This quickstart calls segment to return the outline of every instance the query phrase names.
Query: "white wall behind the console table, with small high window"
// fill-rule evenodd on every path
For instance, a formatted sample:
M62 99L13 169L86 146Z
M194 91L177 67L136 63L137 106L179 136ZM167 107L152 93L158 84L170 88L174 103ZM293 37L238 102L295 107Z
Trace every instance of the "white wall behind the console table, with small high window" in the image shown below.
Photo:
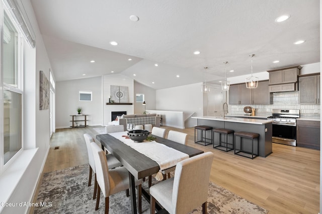
M79 91L91 91L92 101L79 101ZM71 116L88 114L88 125L103 125L102 77L56 82L56 128L71 126ZM83 119L83 118L82 118Z

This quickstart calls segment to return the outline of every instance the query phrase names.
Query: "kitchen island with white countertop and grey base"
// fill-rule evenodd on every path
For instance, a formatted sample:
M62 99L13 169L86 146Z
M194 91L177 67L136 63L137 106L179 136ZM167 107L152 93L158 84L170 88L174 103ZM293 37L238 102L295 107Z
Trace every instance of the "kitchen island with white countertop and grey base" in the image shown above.
M206 125L215 128L225 128L237 131L258 133L259 156L266 157L272 153L272 122L271 120L248 119L248 118L222 118L214 116L192 117L197 119L197 125ZM215 136L216 137L216 136ZM214 139L218 140L218 139ZM246 142L249 139L243 139ZM239 145L239 137L237 138ZM243 143L244 150L252 150L251 143ZM237 147L238 148L238 147Z

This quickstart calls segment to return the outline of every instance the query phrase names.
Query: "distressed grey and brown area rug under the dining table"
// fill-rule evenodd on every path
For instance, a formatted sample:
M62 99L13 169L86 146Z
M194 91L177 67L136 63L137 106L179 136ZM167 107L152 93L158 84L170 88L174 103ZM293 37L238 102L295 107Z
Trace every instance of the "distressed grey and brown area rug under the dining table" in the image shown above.
M88 186L89 164L74 166L44 173L37 197L37 203L47 206L35 206L34 213L104 213L104 196L101 194L100 208L95 211L93 200L94 176ZM157 182L154 178L152 183ZM147 181L143 182L147 189ZM191 213L201 213L201 206ZM267 213L264 209L238 195L209 182L208 213ZM130 197L125 191L110 196L110 213L131 213ZM149 204L142 197L142 213L150 213Z

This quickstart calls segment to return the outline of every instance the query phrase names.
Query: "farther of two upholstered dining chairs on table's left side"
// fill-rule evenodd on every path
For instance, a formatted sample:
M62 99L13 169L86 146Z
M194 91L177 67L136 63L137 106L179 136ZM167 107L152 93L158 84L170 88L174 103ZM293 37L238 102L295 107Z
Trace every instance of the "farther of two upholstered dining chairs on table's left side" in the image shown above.
M93 193L93 199L96 198L96 190L97 190L97 180L96 180L96 170L95 170L95 162L94 162L94 157L93 157L93 152L92 152L92 147L91 143L95 142L94 138L89 135L89 134L84 134L85 142L86 142L86 147L87 147L87 153L89 155L89 163L90 163L90 176L89 176L89 183L88 186L91 185L92 183L92 173L94 172L95 175L95 181L94 181L94 193ZM106 154L106 159L108 162L108 165L110 168L115 168L118 166L122 166L122 163L114 157L113 154Z

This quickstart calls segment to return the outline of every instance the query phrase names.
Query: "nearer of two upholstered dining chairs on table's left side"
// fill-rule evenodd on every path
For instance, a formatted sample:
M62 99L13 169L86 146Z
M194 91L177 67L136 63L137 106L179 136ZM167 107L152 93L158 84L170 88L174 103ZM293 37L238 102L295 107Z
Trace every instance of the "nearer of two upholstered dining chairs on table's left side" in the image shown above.
M94 142L91 143L91 147L93 151L98 182L95 210L99 208L100 195L102 190L105 197L105 213L109 213L109 196L122 190L126 190L130 187L129 172L124 166L110 170L106 161L104 151ZM139 213L141 213L142 210L141 184L142 179L135 179L135 185L137 186L138 192L137 206Z

